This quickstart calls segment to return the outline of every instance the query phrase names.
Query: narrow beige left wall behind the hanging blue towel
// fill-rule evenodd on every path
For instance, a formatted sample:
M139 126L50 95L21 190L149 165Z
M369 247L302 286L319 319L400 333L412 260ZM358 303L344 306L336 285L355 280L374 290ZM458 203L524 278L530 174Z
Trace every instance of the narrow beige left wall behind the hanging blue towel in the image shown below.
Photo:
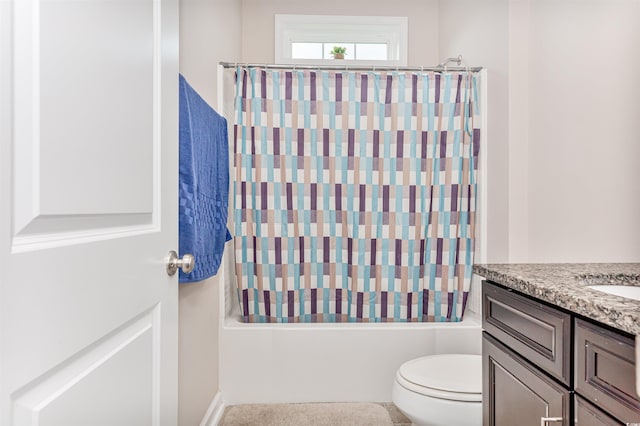
M217 108L217 65L239 61L241 2L180 1L180 72ZM179 293L178 424L197 425L219 390L219 279L182 284Z

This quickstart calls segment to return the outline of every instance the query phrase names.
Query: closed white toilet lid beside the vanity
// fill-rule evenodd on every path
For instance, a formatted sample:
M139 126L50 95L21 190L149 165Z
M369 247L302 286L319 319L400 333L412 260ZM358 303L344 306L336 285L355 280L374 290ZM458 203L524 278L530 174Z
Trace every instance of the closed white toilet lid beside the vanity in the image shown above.
M477 396L461 395L459 400L465 401L476 399L479 401L482 397L482 357L480 355L444 354L416 358L402 364L398 375L414 385L411 386L412 388L423 387L445 393L477 394Z

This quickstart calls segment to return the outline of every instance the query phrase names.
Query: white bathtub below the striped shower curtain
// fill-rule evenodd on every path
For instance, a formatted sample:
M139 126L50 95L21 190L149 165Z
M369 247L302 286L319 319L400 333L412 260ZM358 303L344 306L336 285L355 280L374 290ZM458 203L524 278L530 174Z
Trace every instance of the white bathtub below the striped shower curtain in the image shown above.
M245 324L228 306L237 305L230 291L221 295L227 306L220 329L220 391L227 405L391 401L403 362L481 353L479 280L460 323Z

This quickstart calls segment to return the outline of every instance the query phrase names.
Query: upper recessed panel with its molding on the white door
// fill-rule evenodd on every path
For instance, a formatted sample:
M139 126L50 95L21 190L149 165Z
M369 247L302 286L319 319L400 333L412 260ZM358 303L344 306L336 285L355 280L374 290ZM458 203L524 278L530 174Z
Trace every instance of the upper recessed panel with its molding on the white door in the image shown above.
M161 2L51 4L11 4L12 253L160 224Z

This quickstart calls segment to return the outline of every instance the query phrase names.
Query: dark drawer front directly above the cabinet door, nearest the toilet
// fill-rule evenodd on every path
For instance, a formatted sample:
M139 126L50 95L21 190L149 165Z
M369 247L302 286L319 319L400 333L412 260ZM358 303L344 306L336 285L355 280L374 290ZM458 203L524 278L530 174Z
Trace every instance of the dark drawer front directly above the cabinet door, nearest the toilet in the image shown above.
M482 327L565 385L571 375L571 316L485 281Z

